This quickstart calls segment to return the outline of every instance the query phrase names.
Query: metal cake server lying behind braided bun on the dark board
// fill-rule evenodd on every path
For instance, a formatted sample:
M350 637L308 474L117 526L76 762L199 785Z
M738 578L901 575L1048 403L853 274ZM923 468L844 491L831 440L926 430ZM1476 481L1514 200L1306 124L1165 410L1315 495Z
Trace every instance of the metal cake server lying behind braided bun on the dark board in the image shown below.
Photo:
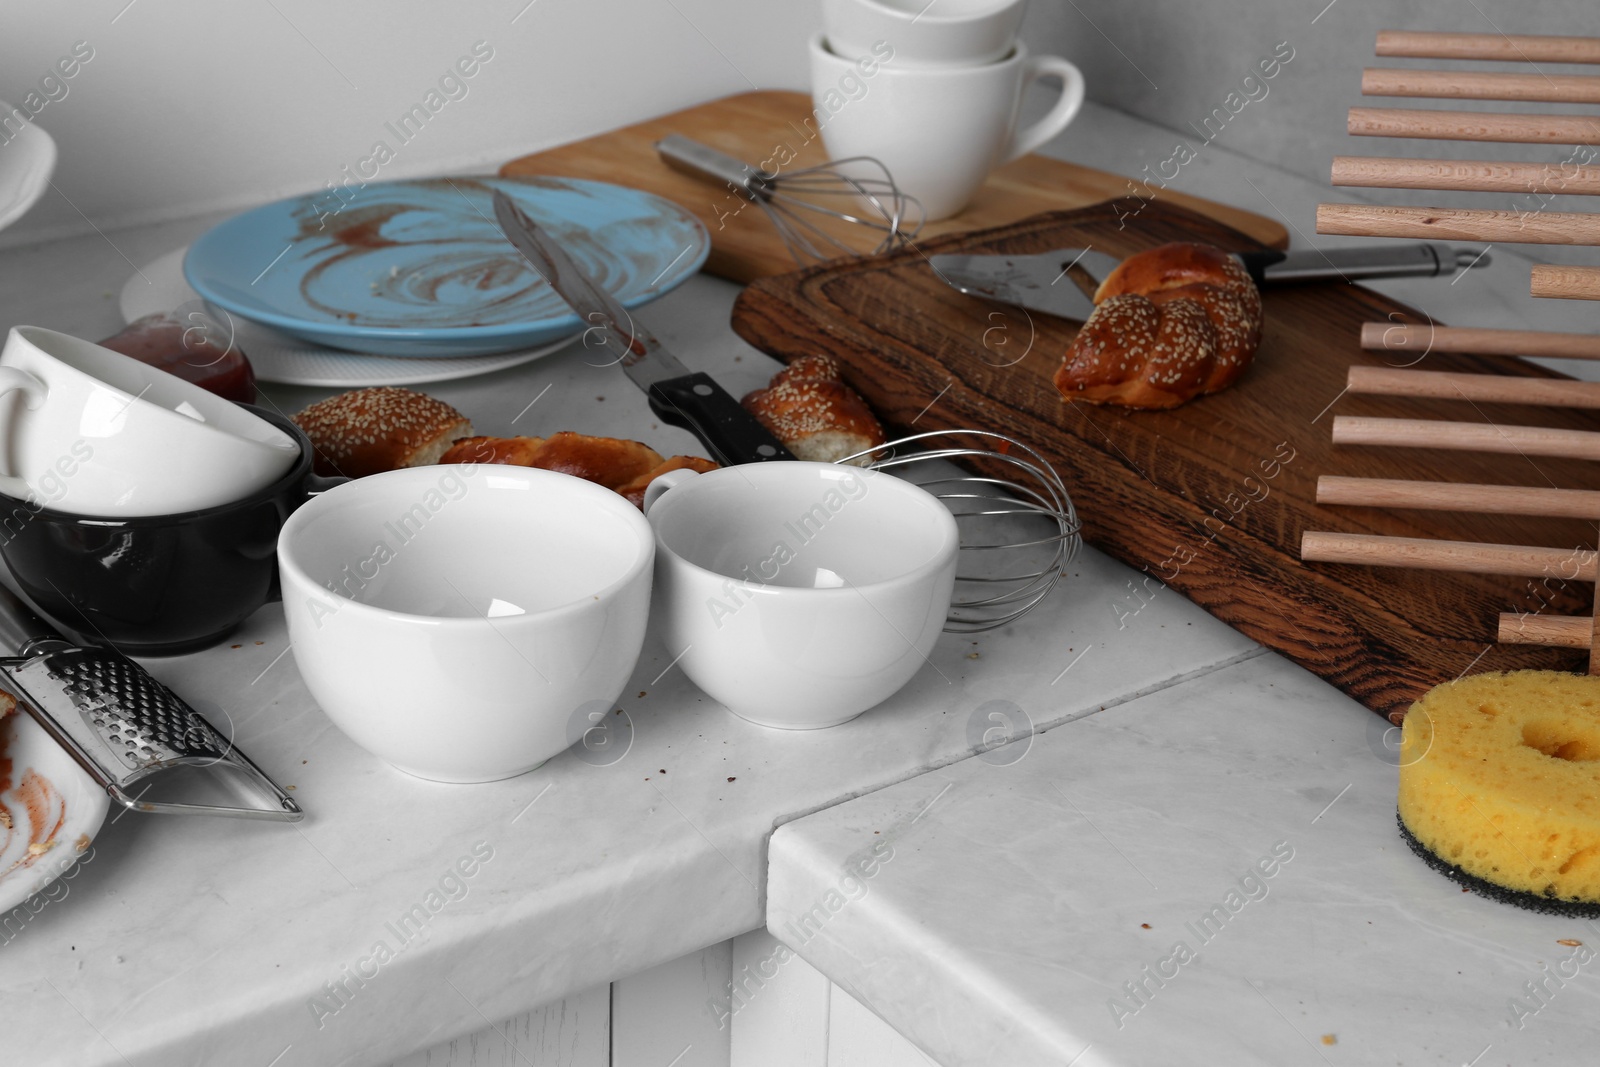
M1234 258L1256 285L1432 278L1490 264L1488 253L1448 245L1302 248L1291 253L1234 253ZM1093 248L1056 248L1037 256L942 253L928 256L928 262L946 285L970 296L1085 320L1094 310L1094 290L1122 258Z

